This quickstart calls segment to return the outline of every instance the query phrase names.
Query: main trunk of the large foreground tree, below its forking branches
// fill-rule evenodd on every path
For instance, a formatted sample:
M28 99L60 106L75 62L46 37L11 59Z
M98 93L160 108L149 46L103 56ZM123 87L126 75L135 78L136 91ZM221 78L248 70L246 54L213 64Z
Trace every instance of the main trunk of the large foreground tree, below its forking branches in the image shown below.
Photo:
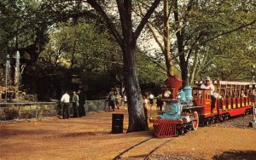
M136 45L125 44L122 48L125 73L125 91L127 94L129 128L127 132L144 131L148 129L143 110L142 93L137 78Z

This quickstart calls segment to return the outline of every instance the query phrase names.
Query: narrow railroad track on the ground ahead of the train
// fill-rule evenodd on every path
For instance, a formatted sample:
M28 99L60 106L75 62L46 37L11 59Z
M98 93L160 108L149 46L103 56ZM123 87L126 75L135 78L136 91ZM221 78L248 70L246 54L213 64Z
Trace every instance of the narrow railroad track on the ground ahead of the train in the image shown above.
M144 160L148 160L148 158L154 153L154 151L159 149L161 146L166 145L166 143L170 142L171 140L173 140L173 139L172 138L157 139L154 137L150 137L146 140L142 140L142 141L138 142L134 146L127 148L125 151L120 152L119 155L117 155L116 157L113 158L113 160L122 159L124 155L126 155L124 158L136 158L136 157L139 158L140 157L140 158L143 158ZM151 143L153 143L153 144L151 144ZM141 151L141 150L139 150L140 147L143 147L146 145L148 145L147 151L145 151L145 149L144 149L143 154L136 154L136 151ZM131 154L131 153L133 153L133 154ZM128 157L127 157L127 155L128 155Z

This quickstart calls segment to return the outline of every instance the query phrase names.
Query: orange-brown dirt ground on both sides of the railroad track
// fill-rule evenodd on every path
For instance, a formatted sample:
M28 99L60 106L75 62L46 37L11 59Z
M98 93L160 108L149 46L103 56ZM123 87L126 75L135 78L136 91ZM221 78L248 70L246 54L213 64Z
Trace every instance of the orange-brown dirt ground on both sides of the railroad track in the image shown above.
M127 111L116 112L125 114L127 129ZM110 134L112 113L0 123L0 159L113 159L152 136L152 125L149 132ZM143 159L155 146L169 139L148 140L121 158ZM256 129L205 127L171 139L149 159L218 159L218 155L234 157L234 152L247 158L256 157Z

